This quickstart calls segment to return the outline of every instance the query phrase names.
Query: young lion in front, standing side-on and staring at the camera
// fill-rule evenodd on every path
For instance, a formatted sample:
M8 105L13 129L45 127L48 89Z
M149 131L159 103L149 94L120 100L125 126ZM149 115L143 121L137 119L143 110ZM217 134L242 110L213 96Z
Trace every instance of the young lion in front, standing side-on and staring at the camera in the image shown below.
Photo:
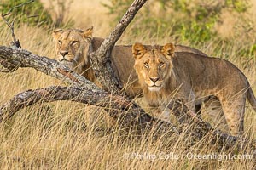
M135 43L132 53L148 105L165 107L172 98L182 99L195 112L195 105L215 96L232 135L243 133L246 99L256 111L256 99L247 78L227 60L177 52L172 43L164 47Z

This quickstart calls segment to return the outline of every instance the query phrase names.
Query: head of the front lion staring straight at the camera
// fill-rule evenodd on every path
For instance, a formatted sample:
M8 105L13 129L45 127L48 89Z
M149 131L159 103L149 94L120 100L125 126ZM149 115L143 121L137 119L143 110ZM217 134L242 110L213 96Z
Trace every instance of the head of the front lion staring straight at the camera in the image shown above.
M132 46L132 53L141 85L149 91L159 91L165 87L172 72L173 44L168 43L163 48L146 48L143 44L136 43Z

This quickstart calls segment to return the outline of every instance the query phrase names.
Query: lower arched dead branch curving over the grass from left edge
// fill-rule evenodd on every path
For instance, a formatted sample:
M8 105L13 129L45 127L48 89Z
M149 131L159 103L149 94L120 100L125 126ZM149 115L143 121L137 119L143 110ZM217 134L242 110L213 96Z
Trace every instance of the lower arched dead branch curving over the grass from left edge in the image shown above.
M9 102L4 104L0 108L0 116L3 120L7 120L11 116L14 116L17 111L27 106L57 100L70 100L100 106L114 120L118 120L122 128L131 129L132 127L136 127L137 132L140 133L145 133L145 131L153 129L155 126L158 126L158 131L162 131L162 133L167 133L167 129L169 134L180 133L182 131L181 128L174 127L167 122L161 122L149 116L138 105L122 96L109 95L106 92L95 92L79 87L52 86L49 88L27 90L15 95L13 99L10 99Z

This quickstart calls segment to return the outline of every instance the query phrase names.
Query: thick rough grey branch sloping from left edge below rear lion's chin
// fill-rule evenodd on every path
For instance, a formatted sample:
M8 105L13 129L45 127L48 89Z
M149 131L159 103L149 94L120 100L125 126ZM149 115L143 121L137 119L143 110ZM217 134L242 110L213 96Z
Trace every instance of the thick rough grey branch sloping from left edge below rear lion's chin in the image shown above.
M93 91L103 91L93 82L79 76L79 74L61 65L55 59L41 57L24 49L0 46L0 64L3 65L3 68L6 68L5 72L14 71L19 67L32 67L51 77L73 84L73 86L78 85L79 87L88 88L87 85L90 85L90 89Z

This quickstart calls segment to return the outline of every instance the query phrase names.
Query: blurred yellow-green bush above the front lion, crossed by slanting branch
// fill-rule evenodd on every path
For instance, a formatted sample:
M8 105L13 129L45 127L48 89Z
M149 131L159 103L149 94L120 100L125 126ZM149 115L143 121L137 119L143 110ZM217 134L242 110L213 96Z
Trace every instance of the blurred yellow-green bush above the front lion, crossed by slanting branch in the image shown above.
M112 0L106 4L109 14L115 17L115 23L121 19L133 0ZM148 2L134 20L132 32L137 36L150 30L150 36L177 38L191 42L206 42L217 36L214 29L222 22L220 15L224 9L237 14L247 12L247 2L238 0L154 0Z

